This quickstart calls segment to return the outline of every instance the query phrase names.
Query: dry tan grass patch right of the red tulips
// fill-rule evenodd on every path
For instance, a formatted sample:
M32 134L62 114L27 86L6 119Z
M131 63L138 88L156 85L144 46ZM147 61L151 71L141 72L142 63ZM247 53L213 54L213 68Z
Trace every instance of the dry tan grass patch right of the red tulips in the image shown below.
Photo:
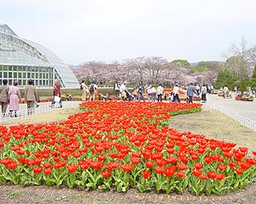
M200 113L176 115L171 118L170 127L178 132L193 132L207 138L233 142L237 146L246 146L249 155L251 151L256 151L256 132L216 110L203 109Z

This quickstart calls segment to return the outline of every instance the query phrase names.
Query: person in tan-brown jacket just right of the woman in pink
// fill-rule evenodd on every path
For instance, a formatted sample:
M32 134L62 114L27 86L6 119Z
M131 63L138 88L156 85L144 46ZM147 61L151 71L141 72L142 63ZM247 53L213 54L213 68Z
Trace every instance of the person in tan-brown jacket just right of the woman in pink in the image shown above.
M37 90L34 86L34 81L29 80L28 86L25 88L25 100L26 100L26 106L28 109L28 114L33 114L35 111L35 101L39 99Z

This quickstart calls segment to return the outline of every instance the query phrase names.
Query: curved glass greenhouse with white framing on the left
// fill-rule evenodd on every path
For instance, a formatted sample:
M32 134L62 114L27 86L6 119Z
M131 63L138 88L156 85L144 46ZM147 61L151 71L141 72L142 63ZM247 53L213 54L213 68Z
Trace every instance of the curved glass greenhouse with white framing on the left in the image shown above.
M38 88L51 88L58 79L63 88L77 88L79 83L72 69L63 60L45 48L17 36L7 25L0 24L0 78L8 84L18 81L27 86L32 79ZM0 81L2 84L2 80Z

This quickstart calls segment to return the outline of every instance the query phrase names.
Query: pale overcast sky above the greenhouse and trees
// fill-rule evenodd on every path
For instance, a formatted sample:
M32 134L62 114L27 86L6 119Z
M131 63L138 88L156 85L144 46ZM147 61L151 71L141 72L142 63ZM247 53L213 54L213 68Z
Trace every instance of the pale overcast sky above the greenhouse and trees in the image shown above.
M65 63L163 57L223 60L256 44L255 0L0 0L0 24Z

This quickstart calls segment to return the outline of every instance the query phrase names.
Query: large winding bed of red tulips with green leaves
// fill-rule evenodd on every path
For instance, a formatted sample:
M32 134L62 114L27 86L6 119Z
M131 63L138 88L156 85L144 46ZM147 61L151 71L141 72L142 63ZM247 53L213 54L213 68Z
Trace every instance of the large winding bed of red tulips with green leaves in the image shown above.
M95 101L81 109L61 123L0 126L0 183L209 196L255 178L246 147L168 127L171 114L201 104Z

